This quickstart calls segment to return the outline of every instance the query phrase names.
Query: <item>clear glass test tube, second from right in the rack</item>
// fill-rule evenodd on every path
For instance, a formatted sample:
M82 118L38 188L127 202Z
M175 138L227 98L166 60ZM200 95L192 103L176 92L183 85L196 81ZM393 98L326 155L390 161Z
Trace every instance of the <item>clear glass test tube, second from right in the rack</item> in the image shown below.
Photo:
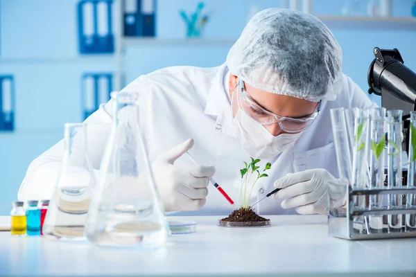
M388 188L401 187L402 110L387 111L388 117ZM401 195L388 195L389 208L401 206ZM388 231L401 232L402 215L388 215Z

